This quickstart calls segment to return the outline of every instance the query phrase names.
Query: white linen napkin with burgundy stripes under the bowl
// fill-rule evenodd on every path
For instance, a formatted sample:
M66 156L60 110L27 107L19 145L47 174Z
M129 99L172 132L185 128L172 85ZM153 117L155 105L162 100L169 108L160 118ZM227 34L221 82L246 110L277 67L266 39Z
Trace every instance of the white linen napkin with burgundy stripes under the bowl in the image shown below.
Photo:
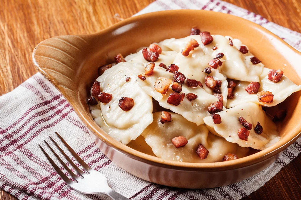
M157 0L136 15L169 9L203 9L243 17L301 49L300 33L220 0ZM24 200L109 199L103 194L81 194L57 175L38 147L44 139L49 141L49 135L57 140L55 131L88 165L107 177L112 189L130 199L240 199L263 186L301 152L299 138L272 165L247 180L213 189L170 188L135 177L112 163L96 147L68 102L39 73L0 97L0 108L0 188Z

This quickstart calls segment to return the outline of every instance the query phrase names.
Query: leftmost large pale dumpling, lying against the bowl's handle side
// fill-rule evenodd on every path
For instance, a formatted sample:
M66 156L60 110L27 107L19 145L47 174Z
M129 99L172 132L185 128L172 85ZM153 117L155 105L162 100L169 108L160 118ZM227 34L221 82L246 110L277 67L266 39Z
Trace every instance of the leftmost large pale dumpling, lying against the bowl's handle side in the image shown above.
M123 144L135 140L153 121L152 98L138 86L133 75L133 66L129 62L120 62L104 71L97 81L100 82L101 91L112 94L112 100L107 104L90 105L95 122L107 134ZM127 77L130 77L128 82ZM118 102L121 97L134 99L131 110L123 111L119 108Z

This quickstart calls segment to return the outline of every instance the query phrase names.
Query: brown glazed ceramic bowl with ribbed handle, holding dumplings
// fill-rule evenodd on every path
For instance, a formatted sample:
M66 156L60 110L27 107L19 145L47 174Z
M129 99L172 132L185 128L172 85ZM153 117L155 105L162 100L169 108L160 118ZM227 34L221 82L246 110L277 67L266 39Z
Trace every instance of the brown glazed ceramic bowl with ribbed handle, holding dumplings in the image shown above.
M33 50L33 63L67 99L92 132L95 143L116 165L144 180L166 186L225 186L264 170L300 137L300 92L293 93L281 103L288 114L279 126L279 142L241 159L215 163L175 162L134 150L105 133L94 122L87 104L99 66L114 62L114 56L118 53L126 56L152 42L186 37L191 27L195 26L212 34L239 38L266 67L280 68L294 83L301 84L300 52L255 23L212 11L160 11L131 17L91 35L49 38Z

